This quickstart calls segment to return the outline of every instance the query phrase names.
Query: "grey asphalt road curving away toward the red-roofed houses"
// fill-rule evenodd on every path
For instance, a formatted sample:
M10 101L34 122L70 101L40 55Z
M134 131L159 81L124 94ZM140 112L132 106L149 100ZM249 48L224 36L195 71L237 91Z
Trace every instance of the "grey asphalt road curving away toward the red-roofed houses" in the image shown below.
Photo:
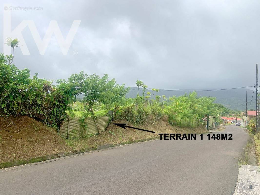
M153 140L0 170L0 194L233 194L249 136L221 133L233 140Z

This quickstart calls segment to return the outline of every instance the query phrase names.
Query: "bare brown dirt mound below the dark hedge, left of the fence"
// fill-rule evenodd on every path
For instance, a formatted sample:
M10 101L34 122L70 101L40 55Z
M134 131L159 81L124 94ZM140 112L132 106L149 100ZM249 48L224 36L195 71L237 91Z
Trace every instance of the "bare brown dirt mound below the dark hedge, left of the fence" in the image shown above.
M0 163L69 151L54 128L28 116L0 117Z

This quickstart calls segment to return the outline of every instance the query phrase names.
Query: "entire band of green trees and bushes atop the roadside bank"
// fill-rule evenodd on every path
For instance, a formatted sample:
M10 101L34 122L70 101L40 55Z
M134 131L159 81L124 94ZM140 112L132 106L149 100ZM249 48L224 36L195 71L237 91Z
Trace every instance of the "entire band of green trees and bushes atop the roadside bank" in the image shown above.
M19 46L17 39L8 39L10 47ZM9 60L9 63L7 60ZM154 123L159 118L167 118L172 125L198 127L205 118L213 116L219 122L221 114L230 110L220 104L213 103L213 97L198 97L196 92L189 95L166 98L156 92L155 100L143 81L137 80L136 86L142 87L142 96L125 98L129 88L116 84L115 79L109 80L107 74L100 77L88 75L83 71L71 75L68 80L53 81L31 77L30 70L20 70L12 64L13 55L0 54L0 110L2 115L27 115L50 125L59 127L61 122L70 117L78 117L84 128L84 118L92 117L97 129L96 120L112 110L112 118L126 120L136 124ZM83 95L82 100L77 96Z

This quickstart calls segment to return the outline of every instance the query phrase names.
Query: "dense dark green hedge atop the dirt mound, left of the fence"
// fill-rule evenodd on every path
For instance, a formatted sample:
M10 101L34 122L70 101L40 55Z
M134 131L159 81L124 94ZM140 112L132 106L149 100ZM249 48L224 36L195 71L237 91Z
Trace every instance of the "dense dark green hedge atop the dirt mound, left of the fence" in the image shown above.
M39 120L60 125L67 117L66 110L74 97L74 89L64 81L57 86L40 79L30 78L28 69L20 70L8 65L0 55L0 109L6 116L28 115Z

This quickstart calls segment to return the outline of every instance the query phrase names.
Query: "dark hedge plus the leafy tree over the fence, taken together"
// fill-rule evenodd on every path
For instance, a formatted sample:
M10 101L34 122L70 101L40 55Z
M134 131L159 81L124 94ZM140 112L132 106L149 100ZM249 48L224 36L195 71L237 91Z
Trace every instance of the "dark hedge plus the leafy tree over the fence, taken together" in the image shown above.
M7 40L10 47L19 47L17 39ZM7 60L9 63L7 63ZM0 111L2 115L28 115L59 127L61 122L70 116L91 116L96 123L96 117L102 116L109 106L125 97L128 88L116 84L115 79L108 80L105 74L87 75L83 72L73 74L66 81L53 81L31 78L30 70L20 70L12 64L13 55L0 53ZM83 94L82 104L75 103L76 96ZM104 109L99 109L102 107ZM99 129L99 127L97 126Z

